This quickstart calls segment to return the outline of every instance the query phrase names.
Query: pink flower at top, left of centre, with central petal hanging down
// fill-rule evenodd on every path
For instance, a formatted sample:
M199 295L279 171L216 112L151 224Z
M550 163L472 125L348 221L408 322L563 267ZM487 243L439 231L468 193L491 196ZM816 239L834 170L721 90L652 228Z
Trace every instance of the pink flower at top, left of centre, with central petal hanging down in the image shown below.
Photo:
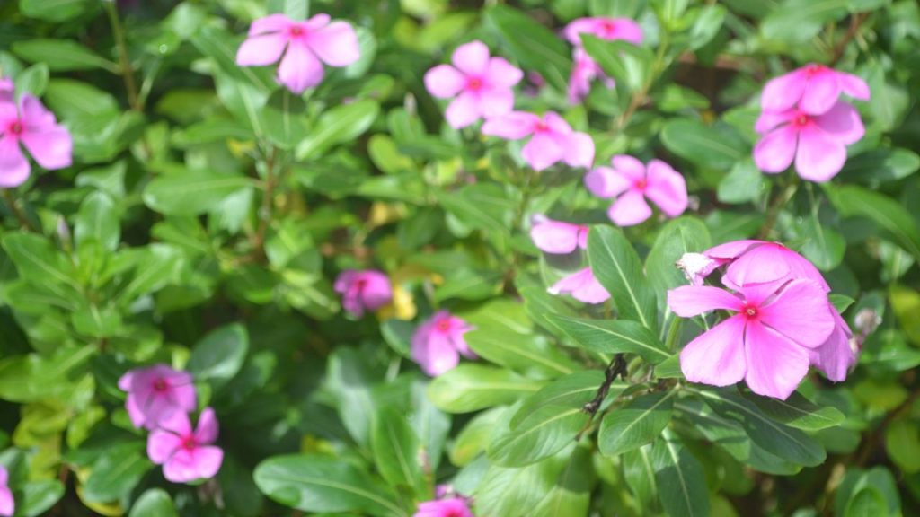
M252 22L247 40L236 52L236 64L265 66L284 54L278 80L293 93L304 93L323 80L323 63L348 66L361 57L358 36L351 25L329 23L329 19L322 14L306 21L293 21L284 15L261 17Z

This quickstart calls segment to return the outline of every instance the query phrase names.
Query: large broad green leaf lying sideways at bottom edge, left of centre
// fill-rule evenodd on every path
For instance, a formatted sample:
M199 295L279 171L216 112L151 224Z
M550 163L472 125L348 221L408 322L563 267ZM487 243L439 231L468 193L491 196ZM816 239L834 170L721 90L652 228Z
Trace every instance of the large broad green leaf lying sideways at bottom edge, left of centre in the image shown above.
M271 457L256 467L259 490L301 511L407 516L393 495L354 465L309 455Z

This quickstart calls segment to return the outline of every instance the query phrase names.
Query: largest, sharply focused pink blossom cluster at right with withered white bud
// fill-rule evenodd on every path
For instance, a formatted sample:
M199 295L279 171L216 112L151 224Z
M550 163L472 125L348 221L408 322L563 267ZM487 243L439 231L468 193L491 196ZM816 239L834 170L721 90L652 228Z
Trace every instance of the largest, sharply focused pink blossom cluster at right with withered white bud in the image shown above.
M668 292L674 314L731 315L681 351L688 381L726 386L743 379L756 394L786 399L809 366L839 382L856 362L853 334L828 299L830 286L788 247L735 241L685 255L678 267L691 285ZM725 289L704 285L719 268Z

